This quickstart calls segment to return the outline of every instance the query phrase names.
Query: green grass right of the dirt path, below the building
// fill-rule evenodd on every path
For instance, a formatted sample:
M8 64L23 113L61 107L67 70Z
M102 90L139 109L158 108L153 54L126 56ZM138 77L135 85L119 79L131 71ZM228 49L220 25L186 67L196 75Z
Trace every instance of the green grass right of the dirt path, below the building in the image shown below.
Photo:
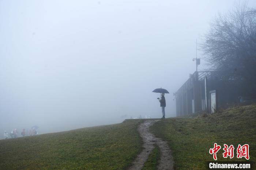
M249 144L249 161L256 159L256 105L235 107L207 117L171 118L158 121L150 130L166 140L173 151L175 169L206 169L206 161L214 161L209 149L214 143L222 148L218 161L237 159L238 144ZM223 144L233 144L234 158L223 158Z

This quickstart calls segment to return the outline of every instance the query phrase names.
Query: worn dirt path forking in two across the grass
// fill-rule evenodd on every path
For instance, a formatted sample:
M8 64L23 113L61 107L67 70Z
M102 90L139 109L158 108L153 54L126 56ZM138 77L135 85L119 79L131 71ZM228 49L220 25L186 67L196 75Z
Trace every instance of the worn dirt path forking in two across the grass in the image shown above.
M173 157L167 142L161 138L156 138L155 135L149 132L149 127L159 120L146 120L139 125L138 131L143 139L143 150L133 161L129 170L140 170L143 168L144 163L147 161L148 155L154 148L154 144L157 144L160 148L161 157L158 165L158 169L173 169Z

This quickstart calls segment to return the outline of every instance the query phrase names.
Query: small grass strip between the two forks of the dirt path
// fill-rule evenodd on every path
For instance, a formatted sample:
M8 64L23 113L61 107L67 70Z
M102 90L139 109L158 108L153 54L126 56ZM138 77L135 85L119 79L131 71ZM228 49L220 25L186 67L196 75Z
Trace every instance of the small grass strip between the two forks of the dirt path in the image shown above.
M152 152L148 156L148 159L145 162L142 170L156 170L159 159L160 159L160 149L158 146L155 146L155 148L152 150Z

